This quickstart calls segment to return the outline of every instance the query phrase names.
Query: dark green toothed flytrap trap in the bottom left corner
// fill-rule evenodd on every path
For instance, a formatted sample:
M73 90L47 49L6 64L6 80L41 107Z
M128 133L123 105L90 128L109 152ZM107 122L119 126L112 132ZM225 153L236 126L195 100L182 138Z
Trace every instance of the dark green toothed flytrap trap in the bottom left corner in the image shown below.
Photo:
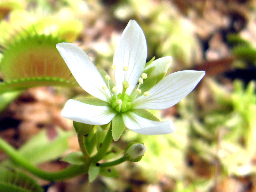
M43 192L44 190L28 175L17 170L0 167L1 192Z

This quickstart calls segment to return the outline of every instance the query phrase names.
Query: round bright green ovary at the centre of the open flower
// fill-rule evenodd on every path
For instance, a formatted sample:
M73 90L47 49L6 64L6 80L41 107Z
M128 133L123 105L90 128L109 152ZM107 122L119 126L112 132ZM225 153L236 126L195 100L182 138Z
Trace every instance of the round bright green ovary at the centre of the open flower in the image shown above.
M121 104L117 103L118 99L122 100ZM132 100L130 96L127 94L122 95L121 93L119 93L117 95L117 98L116 98L116 95L114 95L111 99L111 106L112 108L116 109L117 112L128 111L131 108L131 103L132 103ZM121 108L120 108L120 105L121 105Z

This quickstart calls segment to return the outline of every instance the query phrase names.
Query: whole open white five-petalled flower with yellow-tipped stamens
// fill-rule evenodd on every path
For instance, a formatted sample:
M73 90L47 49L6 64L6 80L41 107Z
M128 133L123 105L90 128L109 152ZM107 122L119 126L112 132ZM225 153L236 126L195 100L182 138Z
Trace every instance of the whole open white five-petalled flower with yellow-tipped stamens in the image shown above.
M125 127L146 135L172 133L174 125L171 120L160 122L145 109L165 109L175 105L195 88L205 74L204 71L187 70L163 78L161 71L152 72L150 69L147 71L151 71L152 76L150 73L142 74L147 45L140 26L134 20L130 20L124 29L114 54L114 83L106 72L98 71L76 45L60 43L56 47L79 85L95 97L68 100L61 115L93 125L108 124L112 120L114 140L120 138ZM164 60L170 61L170 58ZM163 72L166 73L166 69Z

